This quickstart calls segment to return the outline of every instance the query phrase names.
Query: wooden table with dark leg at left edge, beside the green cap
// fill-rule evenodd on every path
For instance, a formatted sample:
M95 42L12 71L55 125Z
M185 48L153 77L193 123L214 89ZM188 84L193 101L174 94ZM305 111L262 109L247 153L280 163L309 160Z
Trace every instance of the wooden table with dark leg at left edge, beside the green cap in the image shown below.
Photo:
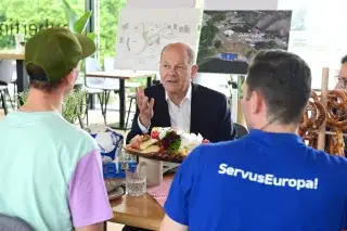
M24 52L18 52L16 50L2 50L0 51L0 60L15 60L16 72L17 72L17 92L22 92L29 87L29 78L26 74L24 66Z

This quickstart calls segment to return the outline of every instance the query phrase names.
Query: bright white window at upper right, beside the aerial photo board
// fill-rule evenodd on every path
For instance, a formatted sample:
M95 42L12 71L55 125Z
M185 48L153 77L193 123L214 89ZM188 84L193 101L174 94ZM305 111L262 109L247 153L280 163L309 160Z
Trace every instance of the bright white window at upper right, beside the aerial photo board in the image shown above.
M320 89L322 68L330 67L329 87L334 88L342 56L347 54L345 0L279 0L279 9L293 10L288 50L311 67L312 88Z

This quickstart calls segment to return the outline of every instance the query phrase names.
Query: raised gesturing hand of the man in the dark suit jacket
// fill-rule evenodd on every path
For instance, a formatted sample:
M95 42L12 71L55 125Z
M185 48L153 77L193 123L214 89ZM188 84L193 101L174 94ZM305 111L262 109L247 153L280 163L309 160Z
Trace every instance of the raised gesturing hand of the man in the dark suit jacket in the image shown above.
M151 101L149 101L149 98L144 94L143 89L139 88L138 94L137 94L137 101L140 110L140 113L139 113L140 123L143 127L147 128L154 115L154 112L153 112L154 99L152 98Z

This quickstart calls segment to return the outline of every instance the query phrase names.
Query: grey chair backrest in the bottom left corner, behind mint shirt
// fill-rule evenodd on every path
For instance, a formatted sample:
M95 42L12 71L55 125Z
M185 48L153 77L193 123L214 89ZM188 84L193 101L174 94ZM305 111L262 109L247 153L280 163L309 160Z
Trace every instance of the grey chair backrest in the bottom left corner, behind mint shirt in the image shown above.
M18 217L0 214L0 230L5 231L35 231L26 221Z

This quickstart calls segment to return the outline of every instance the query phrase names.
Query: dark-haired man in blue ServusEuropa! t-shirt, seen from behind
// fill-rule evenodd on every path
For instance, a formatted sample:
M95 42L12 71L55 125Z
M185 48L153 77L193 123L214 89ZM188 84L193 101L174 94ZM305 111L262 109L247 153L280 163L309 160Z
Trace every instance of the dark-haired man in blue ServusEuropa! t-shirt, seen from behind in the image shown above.
M347 161L297 136L310 92L311 72L299 56L257 53L242 100L249 134L203 144L187 157L160 230L342 230Z

